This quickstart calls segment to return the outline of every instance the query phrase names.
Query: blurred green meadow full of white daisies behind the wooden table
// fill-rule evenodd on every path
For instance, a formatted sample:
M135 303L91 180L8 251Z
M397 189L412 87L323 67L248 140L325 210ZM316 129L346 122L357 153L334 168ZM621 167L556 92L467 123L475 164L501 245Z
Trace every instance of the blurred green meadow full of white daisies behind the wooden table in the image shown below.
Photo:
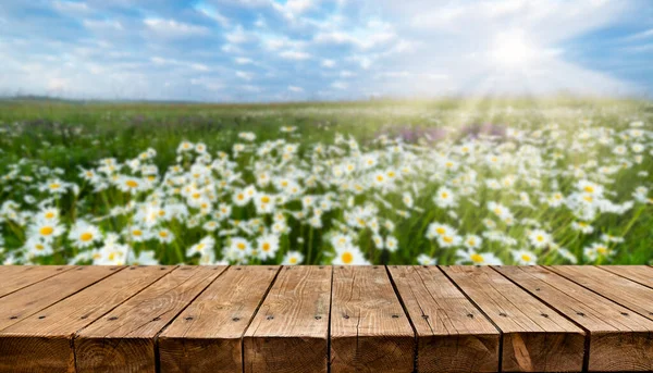
M644 264L645 102L0 104L4 264Z

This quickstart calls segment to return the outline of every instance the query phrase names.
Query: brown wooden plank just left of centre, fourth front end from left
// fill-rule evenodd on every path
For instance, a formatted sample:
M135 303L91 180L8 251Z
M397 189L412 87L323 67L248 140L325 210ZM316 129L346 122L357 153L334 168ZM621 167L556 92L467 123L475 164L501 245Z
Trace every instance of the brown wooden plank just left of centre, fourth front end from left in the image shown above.
M243 339L246 373L326 372L330 266L284 266Z

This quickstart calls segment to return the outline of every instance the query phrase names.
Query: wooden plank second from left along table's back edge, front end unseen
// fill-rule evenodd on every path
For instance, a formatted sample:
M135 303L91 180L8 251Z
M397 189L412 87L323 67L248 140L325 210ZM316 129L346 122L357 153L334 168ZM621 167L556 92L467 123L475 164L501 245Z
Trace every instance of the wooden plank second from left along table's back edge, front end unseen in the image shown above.
M120 270L120 266L78 266L3 297L0 331Z

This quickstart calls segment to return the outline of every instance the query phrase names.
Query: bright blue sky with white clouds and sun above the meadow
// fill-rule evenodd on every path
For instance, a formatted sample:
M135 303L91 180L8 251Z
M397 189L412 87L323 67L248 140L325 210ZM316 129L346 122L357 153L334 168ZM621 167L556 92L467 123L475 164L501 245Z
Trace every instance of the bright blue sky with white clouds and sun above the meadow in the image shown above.
M653 92L649 0L2 0L0 95Z

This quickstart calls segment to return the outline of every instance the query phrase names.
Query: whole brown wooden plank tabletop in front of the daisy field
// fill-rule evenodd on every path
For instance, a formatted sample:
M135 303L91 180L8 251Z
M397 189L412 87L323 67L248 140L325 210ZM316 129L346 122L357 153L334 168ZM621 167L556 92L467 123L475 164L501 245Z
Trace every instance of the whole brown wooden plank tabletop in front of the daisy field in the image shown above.
M652 370L650 266L0 266L0 372Z

